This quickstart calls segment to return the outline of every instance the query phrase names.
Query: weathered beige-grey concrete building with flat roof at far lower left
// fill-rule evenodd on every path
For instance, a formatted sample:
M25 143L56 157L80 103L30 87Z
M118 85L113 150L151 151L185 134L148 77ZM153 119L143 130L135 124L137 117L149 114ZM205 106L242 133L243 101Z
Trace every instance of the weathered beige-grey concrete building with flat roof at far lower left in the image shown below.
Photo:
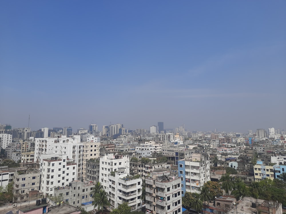
M31 201L38 199L41 192L40 172L36 169L27 169L25 167L16 169L13 184L14 201Z

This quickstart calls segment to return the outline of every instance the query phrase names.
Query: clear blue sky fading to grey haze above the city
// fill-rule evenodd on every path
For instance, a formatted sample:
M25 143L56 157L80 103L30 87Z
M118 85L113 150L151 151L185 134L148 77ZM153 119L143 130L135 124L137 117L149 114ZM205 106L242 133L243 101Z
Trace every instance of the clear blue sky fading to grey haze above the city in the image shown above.
M286 1L0 1L0 123L286 130Z

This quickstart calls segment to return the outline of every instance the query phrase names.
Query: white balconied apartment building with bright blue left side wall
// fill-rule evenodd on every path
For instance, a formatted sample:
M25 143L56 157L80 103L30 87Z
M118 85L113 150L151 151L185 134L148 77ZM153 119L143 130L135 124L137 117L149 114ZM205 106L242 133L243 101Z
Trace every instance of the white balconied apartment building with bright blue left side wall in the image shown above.
M210 181L210 158L207 154L193 153L189 160L178 161L178 176L182 179L182 196L185 192L200 193Z

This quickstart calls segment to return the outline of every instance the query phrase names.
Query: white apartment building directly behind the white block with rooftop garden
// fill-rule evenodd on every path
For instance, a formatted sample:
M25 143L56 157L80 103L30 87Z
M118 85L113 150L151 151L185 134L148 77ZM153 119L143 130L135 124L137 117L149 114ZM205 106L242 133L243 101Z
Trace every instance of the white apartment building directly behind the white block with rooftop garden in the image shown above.
M118 168L122 167L125 167L126 172L129 173L129 155L107 153L100 157L99 181L106 191L109 191L108 175L111 171L118 171Z

